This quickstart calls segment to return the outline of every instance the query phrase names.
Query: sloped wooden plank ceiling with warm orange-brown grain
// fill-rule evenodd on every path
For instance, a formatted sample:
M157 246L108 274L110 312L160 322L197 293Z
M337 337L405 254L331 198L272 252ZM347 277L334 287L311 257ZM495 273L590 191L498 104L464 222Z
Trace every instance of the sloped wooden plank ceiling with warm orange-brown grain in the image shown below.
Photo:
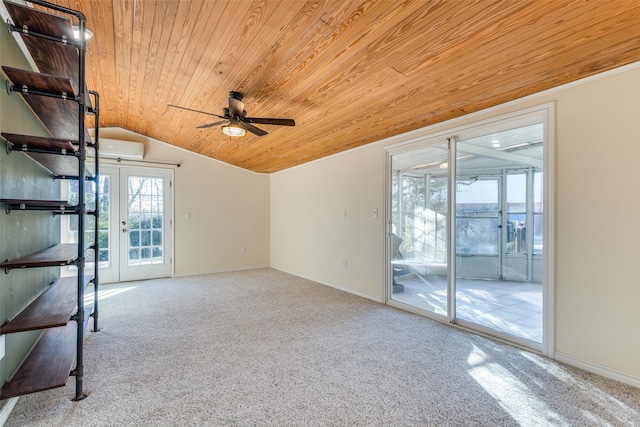
M271 173L640 60L639 0L54 0L100 125ZM257 137L197 129L229 91Z

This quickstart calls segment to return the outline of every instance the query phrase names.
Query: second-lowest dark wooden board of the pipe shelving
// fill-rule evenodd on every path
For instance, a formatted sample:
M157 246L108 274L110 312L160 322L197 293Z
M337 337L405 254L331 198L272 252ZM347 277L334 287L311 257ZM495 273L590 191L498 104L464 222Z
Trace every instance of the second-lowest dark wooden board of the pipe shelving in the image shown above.
M86 288L92 276L85 275ZM78 296L77 277L63 277L49 286L27 308L0 327L0 334L55 328L69 322L76 311Z

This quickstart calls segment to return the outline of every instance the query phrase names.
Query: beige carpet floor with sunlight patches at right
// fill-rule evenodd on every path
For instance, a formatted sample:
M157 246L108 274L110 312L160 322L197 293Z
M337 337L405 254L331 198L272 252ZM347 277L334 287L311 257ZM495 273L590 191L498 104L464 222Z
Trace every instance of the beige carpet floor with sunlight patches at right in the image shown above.
M15 426L638 426L640 390L273 269L102 287Z

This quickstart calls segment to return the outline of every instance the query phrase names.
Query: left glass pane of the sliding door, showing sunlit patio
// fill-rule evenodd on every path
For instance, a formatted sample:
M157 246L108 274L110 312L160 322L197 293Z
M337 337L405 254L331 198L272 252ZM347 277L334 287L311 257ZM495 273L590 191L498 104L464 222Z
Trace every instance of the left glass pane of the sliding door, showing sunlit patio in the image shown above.
M448 144L393 157L392 297L447 316Z

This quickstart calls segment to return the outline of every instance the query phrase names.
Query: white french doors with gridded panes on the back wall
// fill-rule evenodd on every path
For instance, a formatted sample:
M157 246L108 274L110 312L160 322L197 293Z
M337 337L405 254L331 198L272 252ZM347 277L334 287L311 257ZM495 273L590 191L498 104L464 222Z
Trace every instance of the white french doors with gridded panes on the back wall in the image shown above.
M171 170L101 167L97 236L101 283L172 275L171 182ZM73 193L72 186L71 198ZM63 227L65 240L73 240L73 229L71 223ZM93 241L93 236L87 241Z

